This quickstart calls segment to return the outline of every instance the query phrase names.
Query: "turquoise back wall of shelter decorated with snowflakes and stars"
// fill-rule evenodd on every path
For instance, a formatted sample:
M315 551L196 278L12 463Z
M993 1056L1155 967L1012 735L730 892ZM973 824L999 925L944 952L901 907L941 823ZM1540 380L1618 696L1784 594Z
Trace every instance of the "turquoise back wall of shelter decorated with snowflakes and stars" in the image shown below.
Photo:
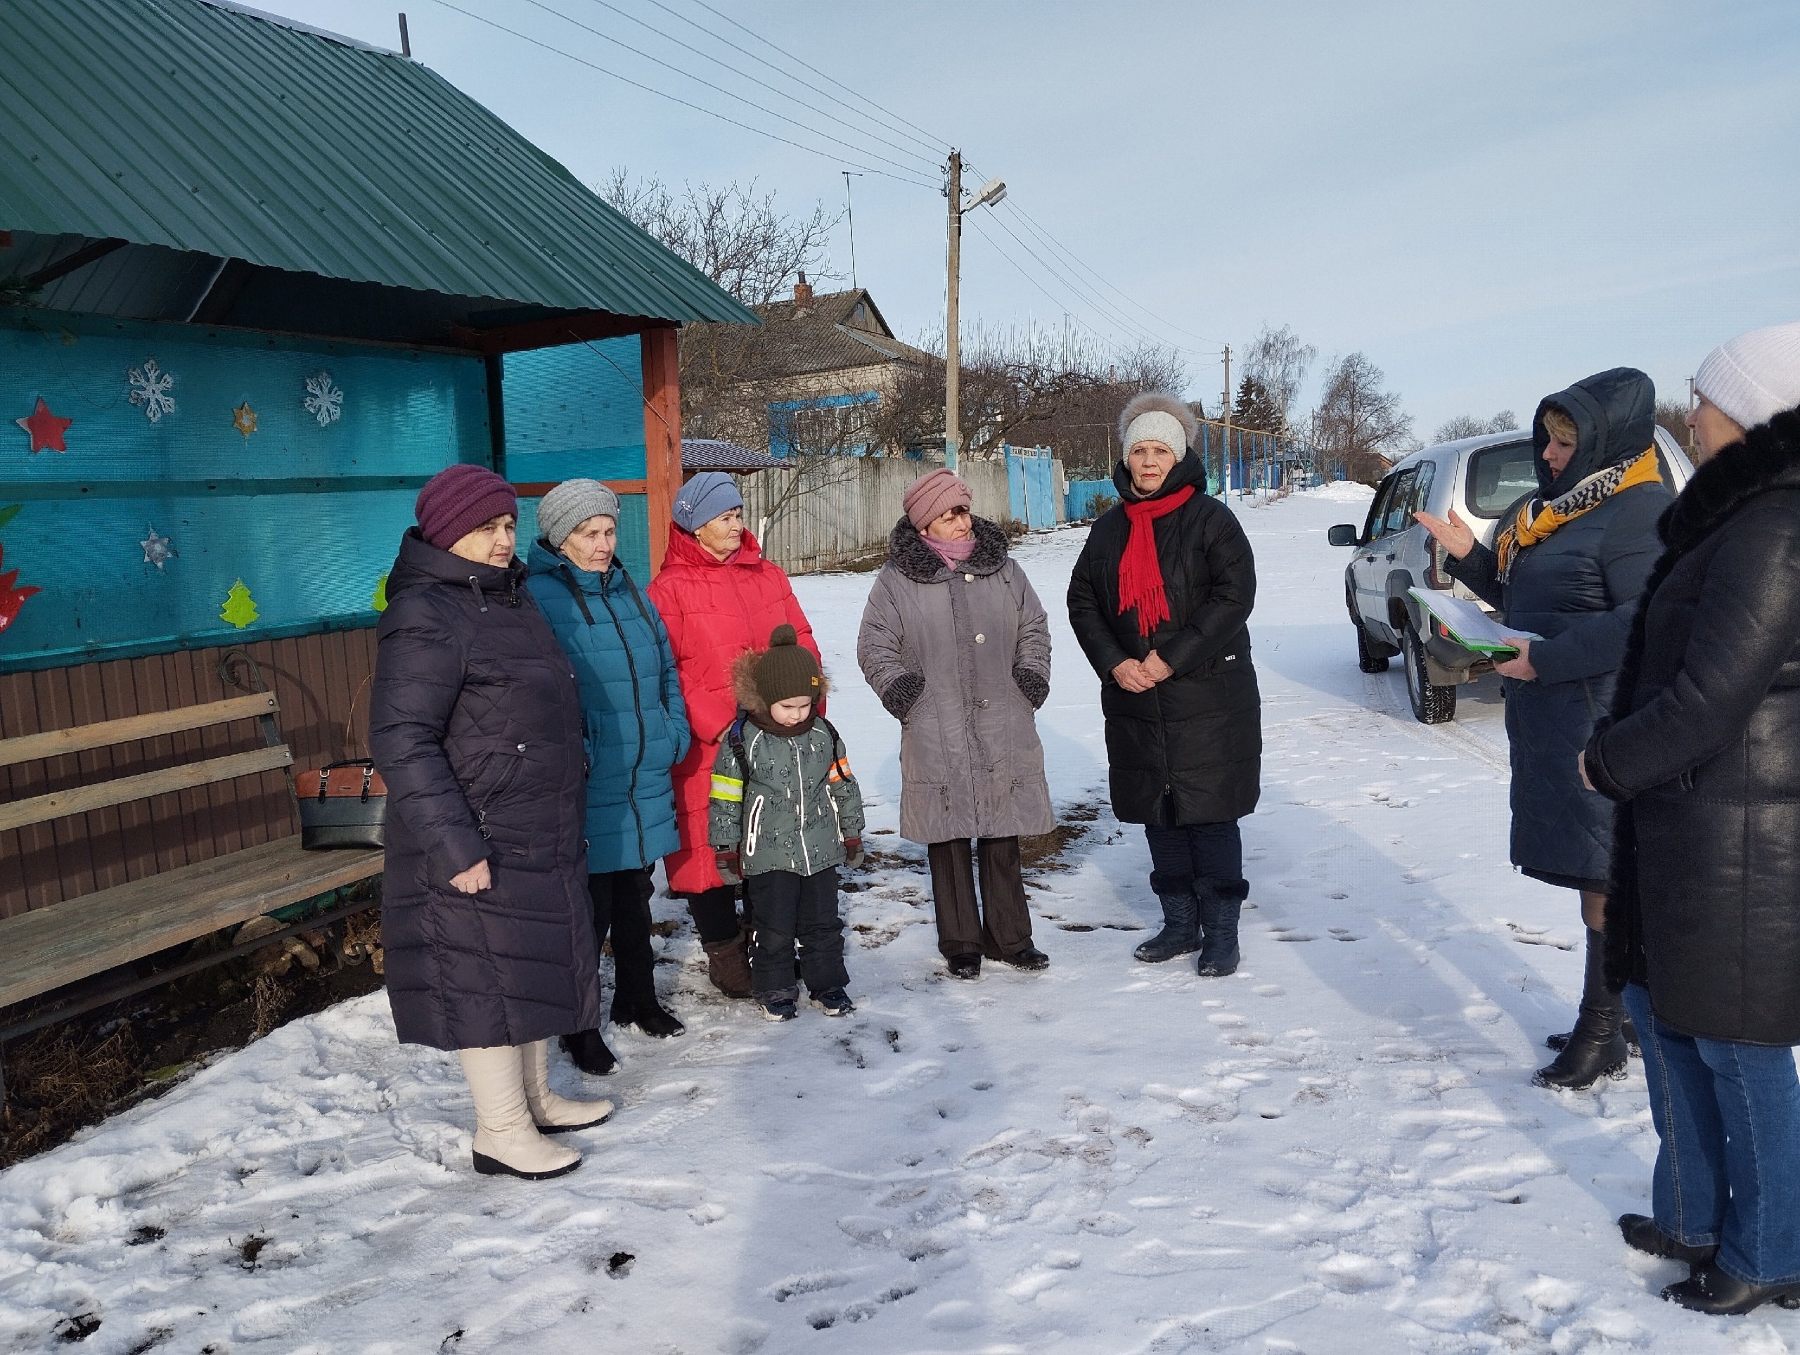
M131 403L149 362L158 419ZM324 423L319 376L340 396ZM65 452L14 423L40 398L74 419ZM0 311L0 671L373 624L418 488L488 457L479 358ZM254 621L221 617L236 581Z

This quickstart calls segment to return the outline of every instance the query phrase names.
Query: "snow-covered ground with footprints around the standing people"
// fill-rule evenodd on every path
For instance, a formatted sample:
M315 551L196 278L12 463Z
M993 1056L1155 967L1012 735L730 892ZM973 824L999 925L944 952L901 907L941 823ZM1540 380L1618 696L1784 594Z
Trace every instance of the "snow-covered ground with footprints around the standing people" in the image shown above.
M844 896L855 1017L770 1026L680 930L688 1035L616 1040L590 1085L619 1112L545 1184L470 1171L454 1058L396 1045L380 993L293 1022L0 1177L0 1350L1800 1346L1800 1314L1661 1303L1685 1270L1618 1240L1649 1197L1640 1065L1528 1085L1580 920L1507 866L1494 684L1426 729L1397 671L1357 671L1325 529L1364 507L1242 511L1267 754L1235 977L1130 957L1148 858L1107 812L1098 684L1058 621L1040 727L1078 833L1035 871L1053 963L947 979L893 833L896 727L853 660L873 576L806 578L880 851ZM1080 543L1021 549L1053 619Z

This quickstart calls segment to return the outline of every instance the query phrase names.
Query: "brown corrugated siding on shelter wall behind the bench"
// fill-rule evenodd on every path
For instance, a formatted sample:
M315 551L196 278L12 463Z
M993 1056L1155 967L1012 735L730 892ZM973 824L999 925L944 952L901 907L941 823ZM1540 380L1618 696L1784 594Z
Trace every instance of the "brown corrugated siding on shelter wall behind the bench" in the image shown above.
M374 630L9 673L0 677L0 738L238 696L239 689L227 686L218 671L230 648L241 648L256 660L281 702L281 732L297 768L364 752L367 693L356 709L353 750L344 747L344 723L358 686L374 671ZM254 720L239 720L209 731L0 767L0 801L259 747L261 727ZM301 826L286 777L265 772L0 833L0 918L297 831Z

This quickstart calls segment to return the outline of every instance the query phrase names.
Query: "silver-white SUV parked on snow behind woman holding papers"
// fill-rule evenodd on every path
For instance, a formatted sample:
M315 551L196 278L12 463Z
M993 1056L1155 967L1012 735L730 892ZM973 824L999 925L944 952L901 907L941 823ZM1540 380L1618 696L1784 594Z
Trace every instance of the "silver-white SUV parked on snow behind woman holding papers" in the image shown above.
M1665 428L1656 430L1656 464L1670 493L1681 493L1694 468ZM1456 644L1449 633L1408 596L1408 588L1449 588L1474 597L1444 569L1444 547L1431 540L1413 513L1449 516L1454 507L1474 527L1476 540L1494 543L1494 531L1508 507L1537 493L1532 435L1528 432L1463 437L1413 452L1375 489L1368 520L1357 529L1330 529L1332 545L1354 545L1345 567L1345 603L1355 626L1357 662L1364 673L1381 673L1388 660L1404 655L1406 695L1413 714L1427 725L1456 718L1456 687L1474 682L1494 664Z

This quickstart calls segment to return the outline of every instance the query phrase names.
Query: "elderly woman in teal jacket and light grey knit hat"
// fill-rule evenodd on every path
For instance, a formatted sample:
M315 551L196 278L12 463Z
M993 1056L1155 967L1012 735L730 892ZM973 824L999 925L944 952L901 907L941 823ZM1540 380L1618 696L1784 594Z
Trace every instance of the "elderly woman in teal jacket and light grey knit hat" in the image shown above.
M538 504L526 587L581 687L587 727L587 869L594 939L612 934L612 1022L646 1035L686 1027L657 1001L650 871L680 846L670 768L688 752L688 711L668 630L617 560L619 498L563 480ZM617 1060L598 1029L563 1036L583 1072Z

